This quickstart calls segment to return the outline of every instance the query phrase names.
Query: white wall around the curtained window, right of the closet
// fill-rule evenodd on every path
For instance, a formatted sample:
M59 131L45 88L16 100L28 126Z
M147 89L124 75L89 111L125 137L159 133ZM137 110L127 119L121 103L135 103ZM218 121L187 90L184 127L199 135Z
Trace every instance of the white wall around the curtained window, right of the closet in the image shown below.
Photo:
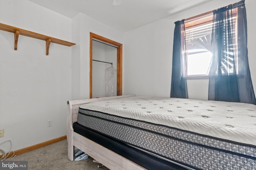
M123 94L170 97L174 22L208 12L238 0L212 0L154 23L124 33ZM248 58L256 91L254 57L255 1L246 0L248 20ZM208 80L188 80L188 97L208 99Z

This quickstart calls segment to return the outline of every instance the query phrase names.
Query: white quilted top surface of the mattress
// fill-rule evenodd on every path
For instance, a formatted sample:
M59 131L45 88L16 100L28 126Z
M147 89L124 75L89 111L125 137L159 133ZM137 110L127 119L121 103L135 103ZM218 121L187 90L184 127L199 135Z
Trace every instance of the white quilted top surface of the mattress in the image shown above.
M256 146L253 104L135 96L80 107Z

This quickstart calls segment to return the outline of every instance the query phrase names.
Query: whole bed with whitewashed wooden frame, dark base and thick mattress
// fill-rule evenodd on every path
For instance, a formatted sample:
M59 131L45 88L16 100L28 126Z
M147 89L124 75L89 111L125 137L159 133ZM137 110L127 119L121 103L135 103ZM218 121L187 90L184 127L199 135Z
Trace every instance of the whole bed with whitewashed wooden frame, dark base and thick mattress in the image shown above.
M109 169L256 170L256 106L148 96L68 101L74 146Z

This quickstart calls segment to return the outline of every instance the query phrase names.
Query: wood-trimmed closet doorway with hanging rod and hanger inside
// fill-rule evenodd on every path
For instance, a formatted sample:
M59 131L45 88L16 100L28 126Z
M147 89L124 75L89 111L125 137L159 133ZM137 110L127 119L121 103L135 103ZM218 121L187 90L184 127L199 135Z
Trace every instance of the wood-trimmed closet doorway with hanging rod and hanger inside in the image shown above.
M114 58L107 58L112 54ZM113 87L116 92L111 92ZM90 33L90 98L110 94L122 95L122 44Z

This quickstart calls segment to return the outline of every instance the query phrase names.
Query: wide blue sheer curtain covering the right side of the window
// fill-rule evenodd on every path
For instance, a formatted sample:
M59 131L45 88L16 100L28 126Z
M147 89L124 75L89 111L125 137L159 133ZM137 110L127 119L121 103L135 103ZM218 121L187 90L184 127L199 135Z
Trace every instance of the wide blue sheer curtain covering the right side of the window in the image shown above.
M248 64L244 0L214 10L208 99L256 104Z

